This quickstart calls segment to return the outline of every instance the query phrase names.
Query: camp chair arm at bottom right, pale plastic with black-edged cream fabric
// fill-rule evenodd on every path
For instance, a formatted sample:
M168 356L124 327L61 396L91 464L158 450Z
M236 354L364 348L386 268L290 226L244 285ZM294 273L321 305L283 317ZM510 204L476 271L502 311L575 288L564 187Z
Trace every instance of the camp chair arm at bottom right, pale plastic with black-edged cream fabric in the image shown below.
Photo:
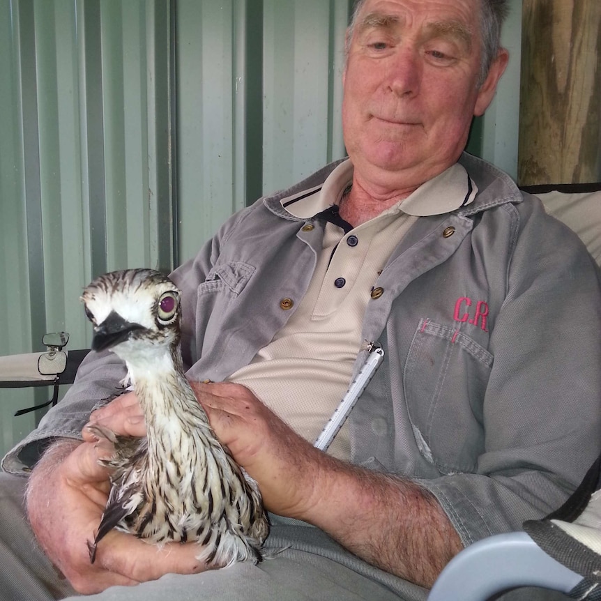
M523 532L491 536L459 553L428 601L485 601L522 586L601 599L601 456L557 511L524 522Z

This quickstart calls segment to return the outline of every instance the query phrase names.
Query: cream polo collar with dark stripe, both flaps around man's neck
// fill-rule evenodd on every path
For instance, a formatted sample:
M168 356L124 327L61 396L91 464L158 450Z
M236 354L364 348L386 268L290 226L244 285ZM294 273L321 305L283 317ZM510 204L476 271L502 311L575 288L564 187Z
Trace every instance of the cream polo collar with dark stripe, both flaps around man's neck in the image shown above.
M345 160L337 165L323 185L303 190L280 200L282 206L292 215L308 219L338 204L344 190L353 181L353 164ZM442 215L466 206L476 198L478 187L459 163L420 185L411 195L402 199L384 213L402 211L408 215L425 217Z

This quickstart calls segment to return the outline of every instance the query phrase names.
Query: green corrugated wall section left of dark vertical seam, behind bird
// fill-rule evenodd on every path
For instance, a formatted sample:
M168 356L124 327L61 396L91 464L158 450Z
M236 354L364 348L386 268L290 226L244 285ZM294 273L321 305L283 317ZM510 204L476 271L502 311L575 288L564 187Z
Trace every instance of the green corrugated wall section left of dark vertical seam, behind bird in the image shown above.
M171 8L0 2L1 354L41 350L49 330L88 346L93 275L172 264ZM0 389L1 448L45 395Z

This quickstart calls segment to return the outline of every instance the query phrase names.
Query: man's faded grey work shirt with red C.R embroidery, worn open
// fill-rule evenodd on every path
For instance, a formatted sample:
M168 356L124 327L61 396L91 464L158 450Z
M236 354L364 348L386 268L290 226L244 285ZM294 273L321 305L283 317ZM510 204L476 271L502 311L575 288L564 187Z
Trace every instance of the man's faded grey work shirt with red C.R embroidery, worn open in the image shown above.
M556 508L599 455L601 293L584 245L538 199L482 160L460 162L476 199L420 217L376 282L362 336L386 358L349 419L351 460L420 481L468 545ZM282 300L303 298L324 225L280 199L334 167L232 216L174 272L191 379L247 365L289 319ZM93 355L4 469L31 464L49 438L79 438L124 374L115 356Z

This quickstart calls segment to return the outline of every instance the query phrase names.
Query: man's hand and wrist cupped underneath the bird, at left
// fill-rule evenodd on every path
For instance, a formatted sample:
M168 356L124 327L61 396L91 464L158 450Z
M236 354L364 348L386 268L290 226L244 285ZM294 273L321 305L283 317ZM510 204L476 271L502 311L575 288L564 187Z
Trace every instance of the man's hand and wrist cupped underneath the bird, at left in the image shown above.
M113 416L114 417L114 416ZM124 418L123 421L127 421ZM98 464L102 447L64 439L40 459L29 480L27 512L40 546L79 593L98 593L116 584L134 585L176 572L204 570L195 543L149 545L133 535L111 531L90 563L93 541L110 488Z

